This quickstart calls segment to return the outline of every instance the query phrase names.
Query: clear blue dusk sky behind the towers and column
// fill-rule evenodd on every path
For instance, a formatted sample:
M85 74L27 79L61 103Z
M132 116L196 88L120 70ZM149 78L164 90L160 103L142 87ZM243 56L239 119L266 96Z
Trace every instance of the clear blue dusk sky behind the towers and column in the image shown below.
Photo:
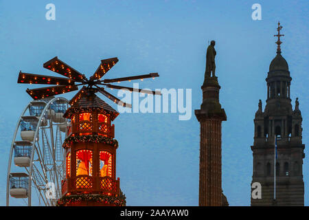
M45 19L47 3L56 5L56 21ZM261 21L251 19L253 3L262 5ZM231 206L249 206L253 118L258 100L265 105L278 20L285 34L282 55L293 78L291 98L294 106L299 97L308 148L308 14L308 1L0 0L0 205L5 205L14 128L31 100L25 93L28 86L16 83L19 70L55 76L43 63L58 56L91 76L101 59L117 56L119 62L106 78L158 72L159 78L140 86L192 89L191 120L179 121L177 113L123 113L114 121L117 176L127 204L197 206L199 124L193 111L202 100L207 42L214 39L220 103L227 113L222 122L222 188Z

